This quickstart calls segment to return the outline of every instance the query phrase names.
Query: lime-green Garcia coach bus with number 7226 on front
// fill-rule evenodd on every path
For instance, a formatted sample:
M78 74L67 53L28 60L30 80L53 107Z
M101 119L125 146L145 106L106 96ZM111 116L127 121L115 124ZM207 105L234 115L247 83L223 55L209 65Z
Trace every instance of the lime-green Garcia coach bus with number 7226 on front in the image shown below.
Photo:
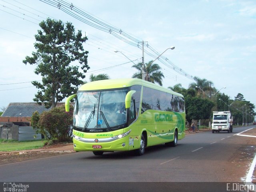
M75 99L73 142L75 151L134 150L147 146L176 146L185 137L185 102L182 94L141 79L89 82Z

